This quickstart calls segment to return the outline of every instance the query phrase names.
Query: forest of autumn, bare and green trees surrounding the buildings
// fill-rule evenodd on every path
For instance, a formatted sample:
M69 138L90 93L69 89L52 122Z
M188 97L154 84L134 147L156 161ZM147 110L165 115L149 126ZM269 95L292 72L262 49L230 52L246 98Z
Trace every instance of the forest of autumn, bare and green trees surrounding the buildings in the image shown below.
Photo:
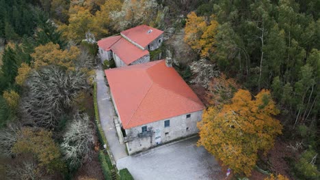
M103 179L96 41L145 24L232 178L319 179L319 17L319 0L0 0L0 176Z

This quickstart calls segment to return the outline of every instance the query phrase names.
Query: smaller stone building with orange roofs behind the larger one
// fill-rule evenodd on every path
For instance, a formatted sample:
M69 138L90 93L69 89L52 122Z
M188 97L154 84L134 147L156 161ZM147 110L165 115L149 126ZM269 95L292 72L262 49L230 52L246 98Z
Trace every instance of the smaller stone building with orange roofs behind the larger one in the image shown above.
M102 63L114 59L116 67L147 63L149 50L156 50L162 42L163 31L139 25L98 41L98 53Z

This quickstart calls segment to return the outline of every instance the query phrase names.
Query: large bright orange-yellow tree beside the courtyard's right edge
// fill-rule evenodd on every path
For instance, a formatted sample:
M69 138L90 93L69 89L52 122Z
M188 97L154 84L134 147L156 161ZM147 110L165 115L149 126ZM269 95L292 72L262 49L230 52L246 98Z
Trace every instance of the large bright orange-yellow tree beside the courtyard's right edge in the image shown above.
M250 175L256 164L258 151L265 153L281 134L282 125L274 115L279 110L269 91L262 90L252 100L249 91L239 89L231 104L221 110L210 107L198 123L198 145L222 160L236 173Z

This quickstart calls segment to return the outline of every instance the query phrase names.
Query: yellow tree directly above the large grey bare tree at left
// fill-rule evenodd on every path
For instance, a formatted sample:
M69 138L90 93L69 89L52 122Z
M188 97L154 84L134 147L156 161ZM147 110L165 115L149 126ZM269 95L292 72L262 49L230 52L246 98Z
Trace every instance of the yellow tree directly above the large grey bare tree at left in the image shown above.
M34 67L44 65L59 65L68 70L75 70L74 61L79 57L80 50L76 46L71 46L70 50L61 50L58 44L49 42L34 49L31 57L34 59Z

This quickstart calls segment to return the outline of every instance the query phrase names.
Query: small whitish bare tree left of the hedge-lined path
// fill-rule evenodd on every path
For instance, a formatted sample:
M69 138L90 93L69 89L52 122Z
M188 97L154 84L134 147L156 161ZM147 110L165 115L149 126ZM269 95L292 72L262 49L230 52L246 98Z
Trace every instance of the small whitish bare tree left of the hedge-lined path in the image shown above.
M64 158L71 168L77 168L92 157L92 147L94 145L94 131L90 125L87 114L74 116L64 134L64 142L61 148Z

